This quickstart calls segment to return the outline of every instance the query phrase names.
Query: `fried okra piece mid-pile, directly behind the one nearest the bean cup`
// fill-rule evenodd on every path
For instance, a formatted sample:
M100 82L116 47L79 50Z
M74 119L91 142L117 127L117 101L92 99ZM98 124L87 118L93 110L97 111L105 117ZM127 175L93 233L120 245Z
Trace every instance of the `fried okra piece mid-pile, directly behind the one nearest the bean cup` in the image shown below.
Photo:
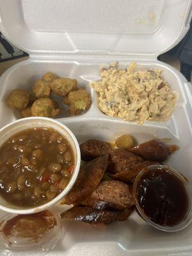
M48 98L51 94L50 83L38 80L33 86L36 98Z

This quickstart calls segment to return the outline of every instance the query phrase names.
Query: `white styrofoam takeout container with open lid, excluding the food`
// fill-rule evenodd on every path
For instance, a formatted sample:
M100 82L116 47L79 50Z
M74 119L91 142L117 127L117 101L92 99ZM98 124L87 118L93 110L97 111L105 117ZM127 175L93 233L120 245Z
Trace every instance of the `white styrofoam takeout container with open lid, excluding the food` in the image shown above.
M80 116L61 112L79 142L89 138L114 141L129 133L139 143L171 138L179 145L166 164L182 172L192 184L191 84L175 68L157 56L186 35L191 20L191 0L0 0L0 30L13 44L29 53L29 60L9 68L0 79L0 125L20 118L6 104L13 88L31 88L45 72L75 77L92 96L92 106ZM138 68L161 68L179 100L168 122L137 125L102 114L97 95L89 88L99 79L99 66L131 61ZM67 117L65 117L67 116ZM64 206L55 206L64 211ZM191 255L192 226L165 234L155 230L136 213L129 220L106 228L63 221L65 236L49 255Z

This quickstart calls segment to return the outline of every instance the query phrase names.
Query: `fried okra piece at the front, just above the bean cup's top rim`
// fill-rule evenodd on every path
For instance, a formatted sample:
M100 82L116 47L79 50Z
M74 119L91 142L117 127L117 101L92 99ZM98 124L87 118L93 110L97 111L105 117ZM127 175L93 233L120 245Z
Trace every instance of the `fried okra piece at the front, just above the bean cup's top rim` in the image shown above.
M54 117L57 116L60 109L54 100L49 98L37 99L31 107L32 116L45 116Z

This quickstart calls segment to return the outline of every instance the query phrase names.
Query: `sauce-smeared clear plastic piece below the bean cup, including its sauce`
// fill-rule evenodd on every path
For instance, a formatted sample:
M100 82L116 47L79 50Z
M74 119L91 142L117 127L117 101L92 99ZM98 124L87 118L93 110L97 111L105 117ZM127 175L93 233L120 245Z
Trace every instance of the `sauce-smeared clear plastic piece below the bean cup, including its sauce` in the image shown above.
M65 233L52 210L20 215L1 211L0 255L42 256L55 248Z

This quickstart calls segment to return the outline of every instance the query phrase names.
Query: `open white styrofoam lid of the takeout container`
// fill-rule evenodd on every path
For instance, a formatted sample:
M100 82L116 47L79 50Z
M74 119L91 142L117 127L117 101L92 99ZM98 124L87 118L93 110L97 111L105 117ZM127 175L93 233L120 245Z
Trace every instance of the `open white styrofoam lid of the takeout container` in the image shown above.
M157 57L189 29L191 0L0 0L0 30L36 54Z

